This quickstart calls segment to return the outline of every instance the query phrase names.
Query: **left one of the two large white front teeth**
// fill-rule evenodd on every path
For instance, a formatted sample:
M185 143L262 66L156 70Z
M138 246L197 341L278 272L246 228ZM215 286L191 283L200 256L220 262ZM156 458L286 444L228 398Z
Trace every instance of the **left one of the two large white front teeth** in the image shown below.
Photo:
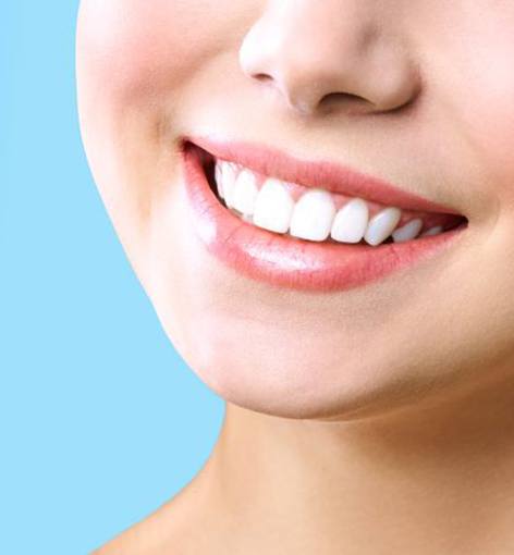
M279 180L265 181L257 195L254 209L254 225L277 233L289 230L294 200Z

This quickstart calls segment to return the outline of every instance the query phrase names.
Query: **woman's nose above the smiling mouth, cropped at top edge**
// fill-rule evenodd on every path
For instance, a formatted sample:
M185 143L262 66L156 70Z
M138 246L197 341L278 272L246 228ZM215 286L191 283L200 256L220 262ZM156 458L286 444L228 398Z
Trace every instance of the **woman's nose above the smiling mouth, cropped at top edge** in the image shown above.
M383 3L272 0L245 35L240 65L303 114L396 110L417 96L420 79L377 8Z

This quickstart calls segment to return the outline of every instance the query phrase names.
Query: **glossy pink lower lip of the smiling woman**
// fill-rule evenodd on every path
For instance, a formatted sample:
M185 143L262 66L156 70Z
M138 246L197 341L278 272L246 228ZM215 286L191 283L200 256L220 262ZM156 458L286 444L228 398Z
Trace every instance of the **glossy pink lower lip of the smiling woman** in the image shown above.
M257 227L230 212L211 190L199 150L184 145L192 222L207 250L241 274L281 288L347 291L415 264L450 246L464 226L378 247L314 243Z

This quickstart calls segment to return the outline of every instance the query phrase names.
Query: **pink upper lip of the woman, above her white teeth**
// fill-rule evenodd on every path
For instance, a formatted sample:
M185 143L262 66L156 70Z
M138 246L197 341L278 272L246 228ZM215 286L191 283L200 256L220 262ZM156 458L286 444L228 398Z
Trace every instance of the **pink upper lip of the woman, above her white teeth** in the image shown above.
M215 158L236 162L249 170L307 187L319 187L345 196L405 210L460 214L452 208L403 190L379 177L331 161L299 160L279 149L245 141L206 136L186 137Z

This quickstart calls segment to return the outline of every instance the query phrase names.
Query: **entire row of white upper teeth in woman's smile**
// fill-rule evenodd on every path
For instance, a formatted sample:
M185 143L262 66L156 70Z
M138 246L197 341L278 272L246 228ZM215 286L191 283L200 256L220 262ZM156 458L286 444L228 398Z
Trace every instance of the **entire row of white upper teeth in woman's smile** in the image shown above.
M306 190L295 202L287 184L268 177L258 186L257 175L233 162L218 160L215 178L218 194L228 208L241 212L246 221L277 233L321 242L329 236L340 243L380 245L390 235L395 243L419 235L424 222L415 218L396 227L402 210L387 207L370 217L368 203L353 198L336 210L332 194L320 188ZM425 231L421 236L437 235L442 226Z

